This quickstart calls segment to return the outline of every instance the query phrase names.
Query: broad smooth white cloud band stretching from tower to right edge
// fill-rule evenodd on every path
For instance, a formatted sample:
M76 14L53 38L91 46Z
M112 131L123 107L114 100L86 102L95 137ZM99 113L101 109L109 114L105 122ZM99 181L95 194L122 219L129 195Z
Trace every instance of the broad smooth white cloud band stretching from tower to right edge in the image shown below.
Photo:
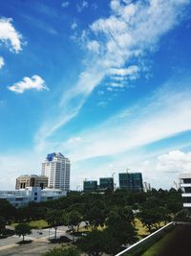
M82 138L77 147L64 143L59 148L78 160L111 156L190 130L190 99L190 90L167 94L163 88L144 104L133 105L104 124L77 134Z

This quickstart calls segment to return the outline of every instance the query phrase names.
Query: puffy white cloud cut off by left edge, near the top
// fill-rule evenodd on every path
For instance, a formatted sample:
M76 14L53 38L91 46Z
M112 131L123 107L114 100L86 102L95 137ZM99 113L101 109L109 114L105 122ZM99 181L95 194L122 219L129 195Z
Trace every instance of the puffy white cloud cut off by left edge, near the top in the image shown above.
M0 40L16 54L22 50L22 35L14 29L11 18L0 18Z

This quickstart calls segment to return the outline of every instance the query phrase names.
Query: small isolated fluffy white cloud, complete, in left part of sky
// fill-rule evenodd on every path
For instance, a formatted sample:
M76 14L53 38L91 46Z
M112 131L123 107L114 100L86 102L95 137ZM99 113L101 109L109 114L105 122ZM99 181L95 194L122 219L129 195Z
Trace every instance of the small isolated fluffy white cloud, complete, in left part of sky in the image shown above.
M18 81L11 86L8 86L9 90L15 93L23 93L25 90L35 89L37 91L48 90L48 87L45 85L45 81L34 75L32 78L25 77L22 81Z

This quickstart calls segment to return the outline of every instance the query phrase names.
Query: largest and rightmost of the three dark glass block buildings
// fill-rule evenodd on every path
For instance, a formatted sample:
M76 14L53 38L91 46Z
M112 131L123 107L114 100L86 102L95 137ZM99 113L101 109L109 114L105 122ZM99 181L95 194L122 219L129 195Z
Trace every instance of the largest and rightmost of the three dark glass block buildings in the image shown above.
M143 190L141 173L120 173L118 179L120 189Z

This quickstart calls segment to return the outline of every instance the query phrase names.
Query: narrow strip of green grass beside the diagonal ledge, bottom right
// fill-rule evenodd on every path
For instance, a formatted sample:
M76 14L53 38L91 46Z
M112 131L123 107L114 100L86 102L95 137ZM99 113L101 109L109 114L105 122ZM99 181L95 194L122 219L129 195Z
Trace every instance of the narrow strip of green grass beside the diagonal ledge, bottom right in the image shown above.
M156 244L153 244L148 250L146 250L141 256L158 256L162 248L172 239L173 235L173 231L166 234Z

